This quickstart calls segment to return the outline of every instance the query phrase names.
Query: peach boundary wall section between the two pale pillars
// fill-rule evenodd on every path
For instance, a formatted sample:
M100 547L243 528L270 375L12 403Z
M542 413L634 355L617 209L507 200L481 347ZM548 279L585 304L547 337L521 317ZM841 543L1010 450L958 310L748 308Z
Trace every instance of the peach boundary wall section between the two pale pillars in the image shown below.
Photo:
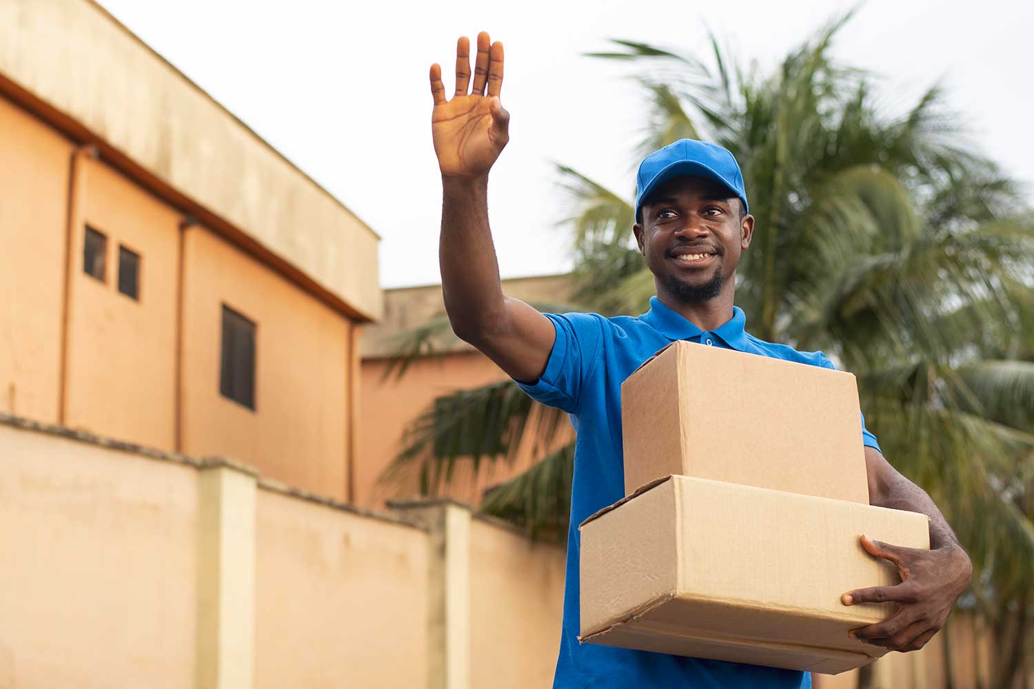
M256 689L425 687L429 539L258 491Z

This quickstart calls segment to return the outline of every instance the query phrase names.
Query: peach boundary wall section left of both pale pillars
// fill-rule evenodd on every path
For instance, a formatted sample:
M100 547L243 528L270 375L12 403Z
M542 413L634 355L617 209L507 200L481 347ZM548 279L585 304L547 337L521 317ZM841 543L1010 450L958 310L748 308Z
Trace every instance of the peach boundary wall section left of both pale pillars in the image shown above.
M0 424L0 687L193 686L193 467Z

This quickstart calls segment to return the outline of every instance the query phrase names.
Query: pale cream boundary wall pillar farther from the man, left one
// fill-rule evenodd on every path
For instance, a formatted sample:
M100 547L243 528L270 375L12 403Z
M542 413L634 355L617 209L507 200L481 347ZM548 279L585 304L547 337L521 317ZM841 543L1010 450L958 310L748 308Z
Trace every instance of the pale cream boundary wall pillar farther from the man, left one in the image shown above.
M199 480L197 688L251 689L257 475L212 460Z

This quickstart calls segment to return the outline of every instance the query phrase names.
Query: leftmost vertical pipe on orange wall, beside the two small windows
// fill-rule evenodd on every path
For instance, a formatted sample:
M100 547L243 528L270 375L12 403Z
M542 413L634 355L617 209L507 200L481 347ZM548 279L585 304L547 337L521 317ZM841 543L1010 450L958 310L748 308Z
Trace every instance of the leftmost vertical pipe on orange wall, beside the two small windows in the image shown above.
M68 355L71 351L72 293L75 284L75 249L83 226L83 193L86 188L86 161L96 159L97 149L93 145L77 148L69 161L68 196L65 202L67 226L65 231L65 274L64 296L61 305L61 350L58 361L58 424L68 422ZM104 258L107 260L107 256Z

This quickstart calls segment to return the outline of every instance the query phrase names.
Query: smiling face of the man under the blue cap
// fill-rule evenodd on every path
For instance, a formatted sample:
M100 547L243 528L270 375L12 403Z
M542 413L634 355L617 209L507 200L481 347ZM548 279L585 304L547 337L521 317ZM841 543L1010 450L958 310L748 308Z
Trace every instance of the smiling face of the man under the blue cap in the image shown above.
M698 303L735 289L739 256L754 218L729 190L701 177L676 177L642 206L633 231L658 282L679 302Z

